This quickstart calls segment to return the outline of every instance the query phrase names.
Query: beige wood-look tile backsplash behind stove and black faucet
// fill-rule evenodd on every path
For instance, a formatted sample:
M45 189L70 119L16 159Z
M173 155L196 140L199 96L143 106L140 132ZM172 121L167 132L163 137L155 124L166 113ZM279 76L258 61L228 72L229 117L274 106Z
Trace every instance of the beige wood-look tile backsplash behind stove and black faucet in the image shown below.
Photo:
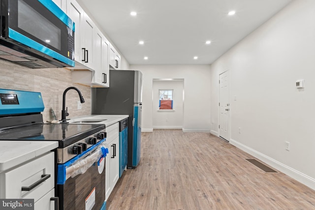
M79 95L75 90L66 93L68 118L91 114L91 88L89 86L72 83L71 71L64 68L32 69L0 60L0 89L27 90L41 92L45 110L43 120L53 120L51 108L57 119L61 119L63 105L63 91L68 87L78 88L85 103L77 110Z

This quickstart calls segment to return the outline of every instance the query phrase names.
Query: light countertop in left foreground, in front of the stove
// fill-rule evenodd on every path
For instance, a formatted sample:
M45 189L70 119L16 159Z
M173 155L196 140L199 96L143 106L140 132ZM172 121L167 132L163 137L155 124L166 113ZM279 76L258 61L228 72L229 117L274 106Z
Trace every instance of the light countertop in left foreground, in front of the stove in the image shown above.
M0 141L0 172L58 148L56 141Z

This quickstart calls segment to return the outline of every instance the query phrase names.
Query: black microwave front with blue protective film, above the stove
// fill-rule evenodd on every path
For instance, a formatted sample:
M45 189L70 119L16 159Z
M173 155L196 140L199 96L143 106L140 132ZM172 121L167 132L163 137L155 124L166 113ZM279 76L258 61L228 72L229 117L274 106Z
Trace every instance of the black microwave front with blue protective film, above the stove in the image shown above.
M53 1L1 2L2 37L69 65L74 63L74 46L71 44L74 43L74 23Z

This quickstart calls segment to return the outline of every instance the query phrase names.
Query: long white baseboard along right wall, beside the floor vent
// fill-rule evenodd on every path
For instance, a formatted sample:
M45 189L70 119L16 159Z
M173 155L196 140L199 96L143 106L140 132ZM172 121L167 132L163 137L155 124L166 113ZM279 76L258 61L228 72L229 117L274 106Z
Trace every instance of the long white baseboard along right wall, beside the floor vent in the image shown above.
M235 147L246 151L247 153L251 154L252 156L256 157L257 159L265 162L266 164L270 165L271 167L281 171L282 173L286 174L287 176L305 184L306 186L312 188L315 190L315 179L312 177L309 177L293 168L290 168L281 162L272 159L271 157L268 157L256 150L253 150L250 147L247 147L246 145L243 145L242 143L239 143L233 139L230 139L230 144L234 145Z

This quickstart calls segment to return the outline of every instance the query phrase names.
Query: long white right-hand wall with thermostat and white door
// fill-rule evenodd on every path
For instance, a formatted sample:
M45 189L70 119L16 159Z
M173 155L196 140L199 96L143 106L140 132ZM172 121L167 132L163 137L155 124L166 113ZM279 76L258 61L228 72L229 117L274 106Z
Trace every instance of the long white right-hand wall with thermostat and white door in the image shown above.
M230 70L230 143L315 189L314 11L314 0L293 1L212 64L211 129L219 74Z

